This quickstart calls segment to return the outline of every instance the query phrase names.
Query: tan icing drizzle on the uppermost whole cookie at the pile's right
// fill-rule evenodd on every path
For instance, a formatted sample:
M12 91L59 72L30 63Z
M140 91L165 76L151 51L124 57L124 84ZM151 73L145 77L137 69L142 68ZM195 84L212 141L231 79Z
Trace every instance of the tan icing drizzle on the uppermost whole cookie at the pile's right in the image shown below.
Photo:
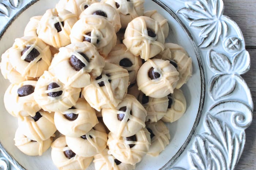
M147 25L146 25L146 21L142 18L142 17L138 17L137 20L140 21L141 23L141 27L142 29L140 31L136 30L135 28L129 28L131 29L132 31L136 32L136 33L139 33L140 36L128 36L126 37L126 39L128 39L128 41L133 41L133 40L140 40L140 41L143 41L143 43L145 43L145 49L141 49L141 56L143 56L143 58L147 61L148 59L150 59L150 44L154 44L156 46L158 46L159 48L161 48L161 51L164 50L164 45L162 43L160 43L159 41L157 41L157 36L156 37L150 37L148 36L148 33L147 33ZM157 21L155 21L155 28L154 28L154 31L155 33L157 34L158 32L158 28L159 28L159 23ZM164 37L163 35L163 32L161 31L162 33L162 36ZM141 46L142 48L144 46ZM128 48L128 47L127 47ZM131 50L131 47L128 48L128 50Z

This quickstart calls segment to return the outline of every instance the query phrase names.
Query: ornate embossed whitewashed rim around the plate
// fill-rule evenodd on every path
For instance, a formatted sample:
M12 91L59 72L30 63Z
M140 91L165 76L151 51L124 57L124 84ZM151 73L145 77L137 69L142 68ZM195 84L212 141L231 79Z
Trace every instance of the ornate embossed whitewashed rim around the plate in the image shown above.
M37 1L0 3L0 17L6 20L0 40L12 22ZM244 149L245 129L252 122L253 110L252 95L240 76L250 68L250 56L245 50L241 30L230 17L223 15L222 0L175 0L177 7L171 7L173 1L152 1L170 13L188 34L201 78L200 104L194 126L176 155L161 169L170 166L172 170L234 169ZM246 93L243 99L239 97L241 91ZM25 169L1 143L0 150L12 165ZM0 159L10 169L8 161Z

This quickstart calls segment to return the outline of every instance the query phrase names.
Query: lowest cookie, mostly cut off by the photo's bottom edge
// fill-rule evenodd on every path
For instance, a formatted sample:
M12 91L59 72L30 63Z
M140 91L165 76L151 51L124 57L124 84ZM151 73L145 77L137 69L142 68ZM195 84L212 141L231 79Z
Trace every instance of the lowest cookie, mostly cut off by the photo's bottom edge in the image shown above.
M108 154L108 149L94 155L95 170L134 170L135 165L118 161L113 155Z

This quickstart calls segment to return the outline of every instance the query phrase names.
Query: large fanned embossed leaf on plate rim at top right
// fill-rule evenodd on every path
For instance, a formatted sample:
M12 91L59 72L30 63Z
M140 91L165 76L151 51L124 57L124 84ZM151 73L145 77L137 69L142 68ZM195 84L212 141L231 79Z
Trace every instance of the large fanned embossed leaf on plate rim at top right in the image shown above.
M228 27L226 21L222 20L222 0L195 0L185 3L185 7L178 10L185 18L191 21L191 26L199 28L201 41L200 48L216 46L220 37L225 38Z

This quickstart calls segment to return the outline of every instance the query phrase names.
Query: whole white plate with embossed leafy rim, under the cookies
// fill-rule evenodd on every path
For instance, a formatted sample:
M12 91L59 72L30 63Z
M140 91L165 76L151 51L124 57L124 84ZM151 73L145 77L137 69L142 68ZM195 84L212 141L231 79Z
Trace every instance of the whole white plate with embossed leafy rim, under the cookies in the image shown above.
M42 15L57 1L0 3L0 54L12 46L15 38L23 36L30 17ZM144 6L145 11L157 9L166 17L170 27L166 42L185 47L192 58L193 76L182 86L187 99L185 115L168 124L170 144L158 157L144 157L136 169L234 169L253 110L250 91L240 76L250 67L240 29L222 15L222 0L146 0ZM17 119L7 113L3 104L9 82L0 76L0 84L3 155L17 169L56 169L50 149L41 157L30 157L14 146ZM89 169L93 167L91 164Z

